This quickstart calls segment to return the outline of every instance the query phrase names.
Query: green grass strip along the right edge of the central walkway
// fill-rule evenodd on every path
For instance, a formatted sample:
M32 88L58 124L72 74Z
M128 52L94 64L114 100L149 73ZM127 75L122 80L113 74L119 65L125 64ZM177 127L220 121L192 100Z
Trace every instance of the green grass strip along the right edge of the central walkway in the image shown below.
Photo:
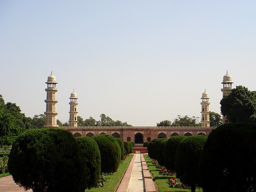
M156 168L155 164L152 163L152 159L148 155L144 155L145 161L148 165L148 170L153 176L153 181L155 181L156 190L159 192L190 192L190 189L178 189L170 188L167 179L172 176L160 175L160 169ZM196 189L196 192L203 192L202 188Z

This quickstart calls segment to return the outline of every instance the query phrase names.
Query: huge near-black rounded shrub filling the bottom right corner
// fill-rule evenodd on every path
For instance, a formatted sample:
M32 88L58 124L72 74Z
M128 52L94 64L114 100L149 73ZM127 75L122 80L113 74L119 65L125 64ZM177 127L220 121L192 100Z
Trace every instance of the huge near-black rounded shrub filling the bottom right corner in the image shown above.
M200 175L205 192L255 191L256 124L224 124L205 143ZM216 182L217 179L217 182Z

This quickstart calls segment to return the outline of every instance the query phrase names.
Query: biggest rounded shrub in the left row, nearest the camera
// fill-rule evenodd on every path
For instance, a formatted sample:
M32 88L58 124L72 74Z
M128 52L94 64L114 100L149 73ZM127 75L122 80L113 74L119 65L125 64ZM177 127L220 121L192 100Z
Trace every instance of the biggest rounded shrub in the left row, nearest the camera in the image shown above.
M34 192L86 188L86 169L74 136L58 128L31 129L17 137L9 155L13 180Z

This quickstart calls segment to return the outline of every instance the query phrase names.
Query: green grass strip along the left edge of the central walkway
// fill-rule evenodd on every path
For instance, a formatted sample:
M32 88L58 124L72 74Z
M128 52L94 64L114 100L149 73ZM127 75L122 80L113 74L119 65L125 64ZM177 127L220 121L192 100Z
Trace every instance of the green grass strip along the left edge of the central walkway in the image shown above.
M128 157L126 157L125 161L119 165L117 172L115 172L113 175L106 176L108 181L103 187L86 189L85 192L115 192L128 165L130 164L130 161L132 160L132 157L133 155L130 154Z

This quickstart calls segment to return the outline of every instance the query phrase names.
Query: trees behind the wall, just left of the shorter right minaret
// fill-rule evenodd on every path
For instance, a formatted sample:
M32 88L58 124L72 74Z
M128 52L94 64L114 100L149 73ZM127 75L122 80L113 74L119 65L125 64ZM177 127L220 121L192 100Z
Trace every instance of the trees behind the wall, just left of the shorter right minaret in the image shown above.
M201 123L199 123L199 117L178 115L178 118L174 119L172 126L201 126Z

